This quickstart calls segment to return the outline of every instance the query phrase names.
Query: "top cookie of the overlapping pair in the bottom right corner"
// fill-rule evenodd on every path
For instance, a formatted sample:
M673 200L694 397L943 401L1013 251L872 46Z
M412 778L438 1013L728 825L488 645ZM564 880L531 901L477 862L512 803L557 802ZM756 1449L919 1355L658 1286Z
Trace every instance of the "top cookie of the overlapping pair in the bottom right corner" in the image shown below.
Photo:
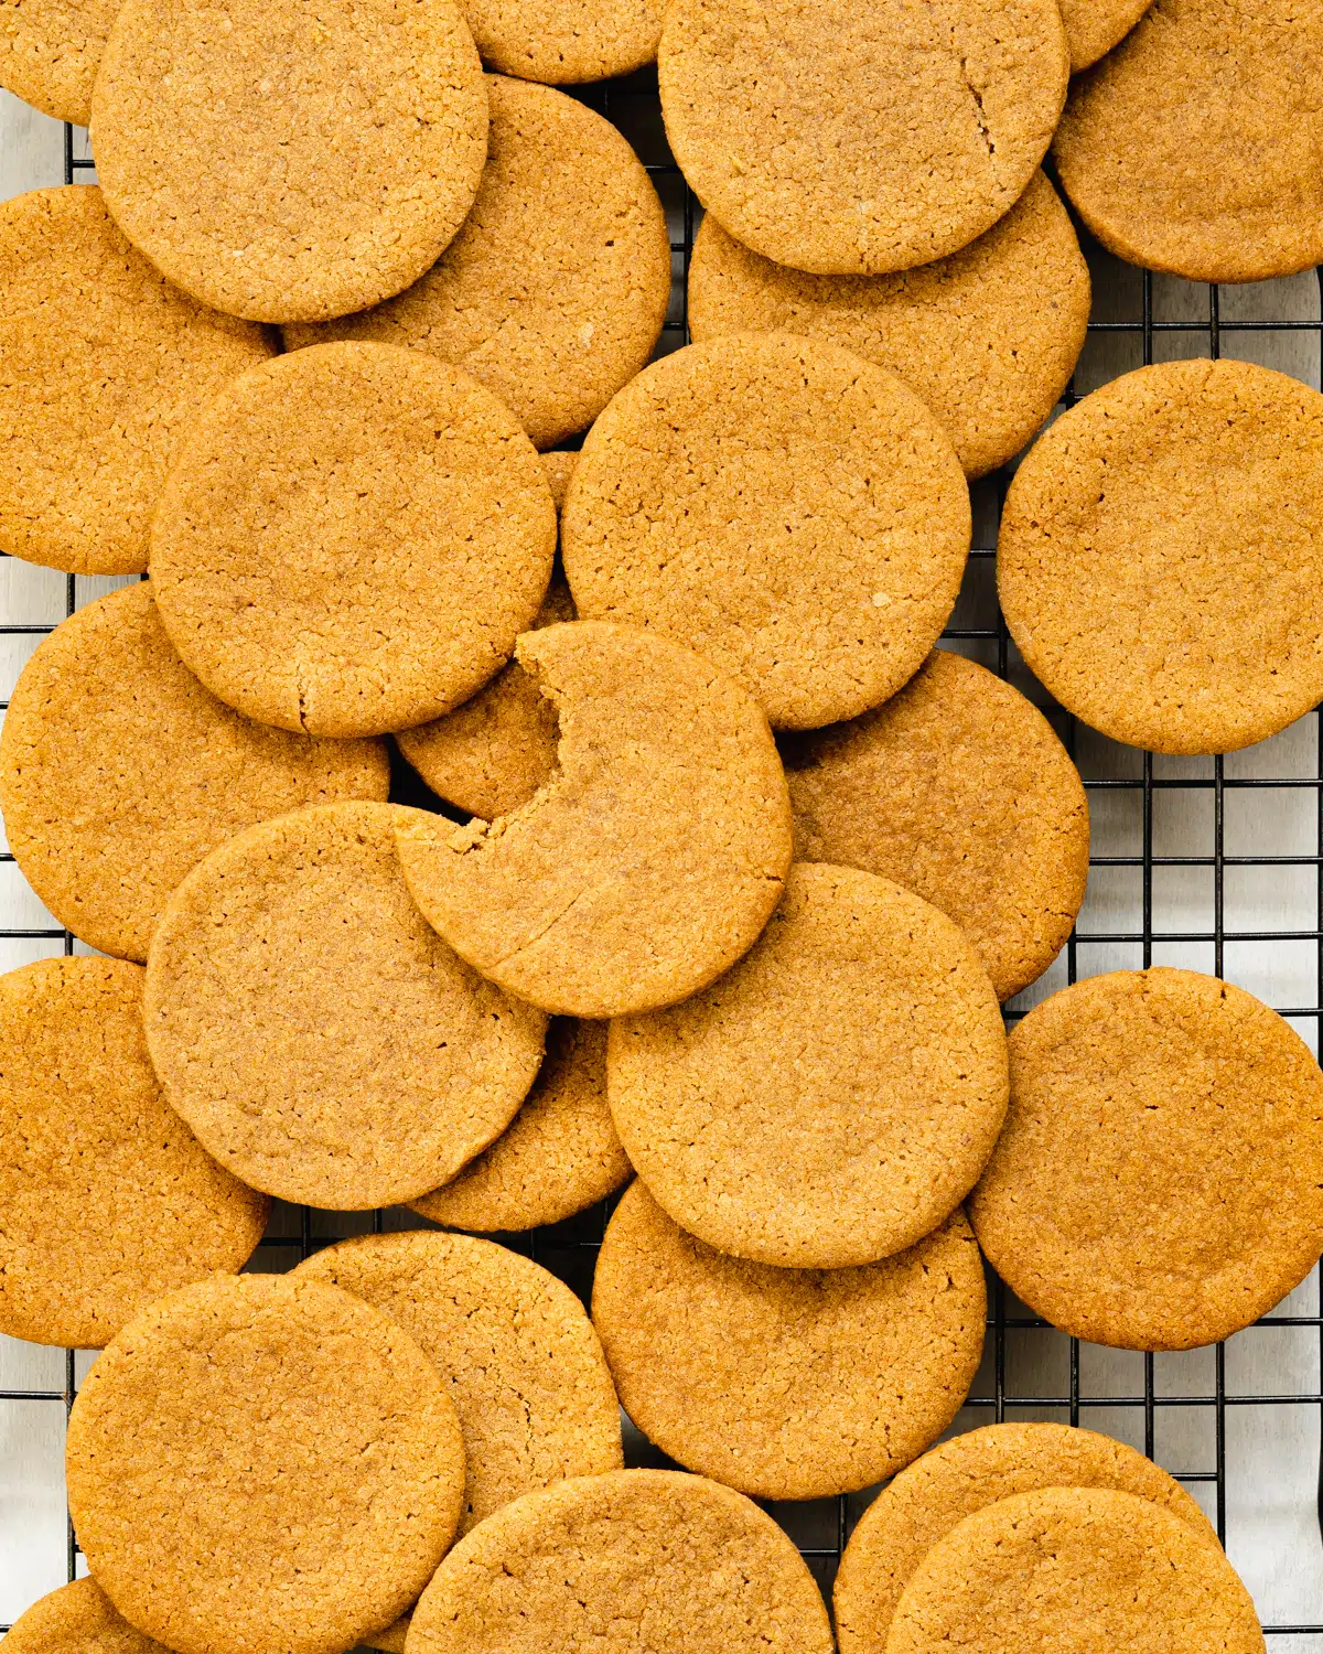
M1134 1494L1048 1487L966 1517L910 1578L888 1654L1263 1654L1220 1546Z

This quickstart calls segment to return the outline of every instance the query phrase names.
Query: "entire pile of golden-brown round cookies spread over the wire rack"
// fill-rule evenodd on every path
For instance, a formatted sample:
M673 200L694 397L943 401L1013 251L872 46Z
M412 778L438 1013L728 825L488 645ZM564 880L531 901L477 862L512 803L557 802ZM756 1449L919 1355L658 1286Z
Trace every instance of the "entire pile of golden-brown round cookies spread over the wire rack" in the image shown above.
M1037 435L1090 308L1048 147L1149 268L1323 255L1323 13L1143 10L0 0L99 175L0 207L0 549L149 576L0 736L89 949L0 978L0 1330L103 1351L91 1580L13 1654L827 1654L754 1500L880 1482L842 1654L1262 1651L1146 1459L933 1446L984 1260L1186 1350L1323 1249L1323 1075L1250 994L1007 1039L1088 807L934 647L1032 442L997 582L1063 708L1222 753L1323 696L1323 397L1171 362ZM556 84L653 58L706 217L648 366L666 215ZM590 1312L485 1239L617 1194ZM273 1199L430 1227L243 1272Z

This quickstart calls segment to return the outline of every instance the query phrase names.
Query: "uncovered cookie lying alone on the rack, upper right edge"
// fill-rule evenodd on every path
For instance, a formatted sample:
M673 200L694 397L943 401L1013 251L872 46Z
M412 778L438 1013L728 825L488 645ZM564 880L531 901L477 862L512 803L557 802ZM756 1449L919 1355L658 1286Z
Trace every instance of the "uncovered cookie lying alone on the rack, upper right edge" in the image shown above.
M1250 362L1103 385L1015 471L997 590L1030 672L1113 741L1275 734L1323 698L1323 397Z

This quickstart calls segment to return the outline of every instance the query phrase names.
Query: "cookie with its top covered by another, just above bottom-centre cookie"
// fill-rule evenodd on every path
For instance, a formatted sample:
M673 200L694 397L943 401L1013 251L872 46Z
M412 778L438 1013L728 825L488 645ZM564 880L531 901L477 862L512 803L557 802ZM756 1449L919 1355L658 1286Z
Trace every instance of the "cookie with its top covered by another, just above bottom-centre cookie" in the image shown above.
M895 1475L954 1419L982 1355L982 1259L961 1212L863 1269L723 1257L633 1183L592 1323L620 1404L671 1459L752 1499Z

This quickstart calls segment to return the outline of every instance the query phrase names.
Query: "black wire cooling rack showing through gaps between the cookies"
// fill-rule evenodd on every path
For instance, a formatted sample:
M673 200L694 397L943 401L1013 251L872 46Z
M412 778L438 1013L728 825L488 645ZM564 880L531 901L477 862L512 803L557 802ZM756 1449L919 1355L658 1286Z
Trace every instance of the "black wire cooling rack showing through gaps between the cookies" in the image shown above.
M655 74L574 93L623 131L663 198L675 283L658 351L676 349L686 341L685 273L701 208L666 151ZM86 136L66 127L66 182L93 177ZM1323 309L1316 273L1219 289L1131 270L1091 246L1087 237L1082 240L1093 270L1095 304L1085 354L1063 405L1120 372L1173 357L1245 357L1320 384ZM1186 964L1225 974L1257 992L1318 1052L1323 1032L1318 713L1259 748L1211 759L1154 758L1077 726L1029 678L997 610L992 559L1005 480L1001 473L974 488L974 549L946 647L1010 678L1047 711L1082 769L1093 819L1090 895L1080 925L1047 976L1012 1001L1009 1019L1080 976L1154 963ZM89 582L68 577L64 612L71 614L88 595L93 595ZM21 660L55 619L46 615L38 624L0 615L5 695ZM392 797L438 807L404 766L395 772ZM3 862L12 863L12 857L5 853ZM0 872L17 878L13 867ZM0 948L8 949L0 958L8 968L60 948L71 953L74 939L48 920L0 928ZM501 1239L587 1298L605 1217L607 1209L595 1207L552 1229ZM422 1219L402 1211L332 1214L278 1206L253 1267L289 1269L342 1236L420 1224ZM46 1388L0 1389L0 1406L68 1413L88 1360L66 1351L63 1381L51 1368ZM989 1274L984 1361L953 1429L999 1419L1057 1419L1101 1429L1156 1457L1216 1522L1255 1594L1272 1654L1323 1654L1321 1371L1318 1272L1229 1343L1158 1356L1105 1351L1067 1338L1037 1320ZM627 1457L632 1464L666 1462L632 1431L627 1431ZM0 1464L0 1517L12 1492L21 1500L23 1477L30 1474ZM872 1494L769 1505L825 1591ZM20 1591L12 1611L79 1570L68 1518L60 1553L43 1555L40 1568L35 1563L33 1568L41 1576L31 1580L26 1593Z

